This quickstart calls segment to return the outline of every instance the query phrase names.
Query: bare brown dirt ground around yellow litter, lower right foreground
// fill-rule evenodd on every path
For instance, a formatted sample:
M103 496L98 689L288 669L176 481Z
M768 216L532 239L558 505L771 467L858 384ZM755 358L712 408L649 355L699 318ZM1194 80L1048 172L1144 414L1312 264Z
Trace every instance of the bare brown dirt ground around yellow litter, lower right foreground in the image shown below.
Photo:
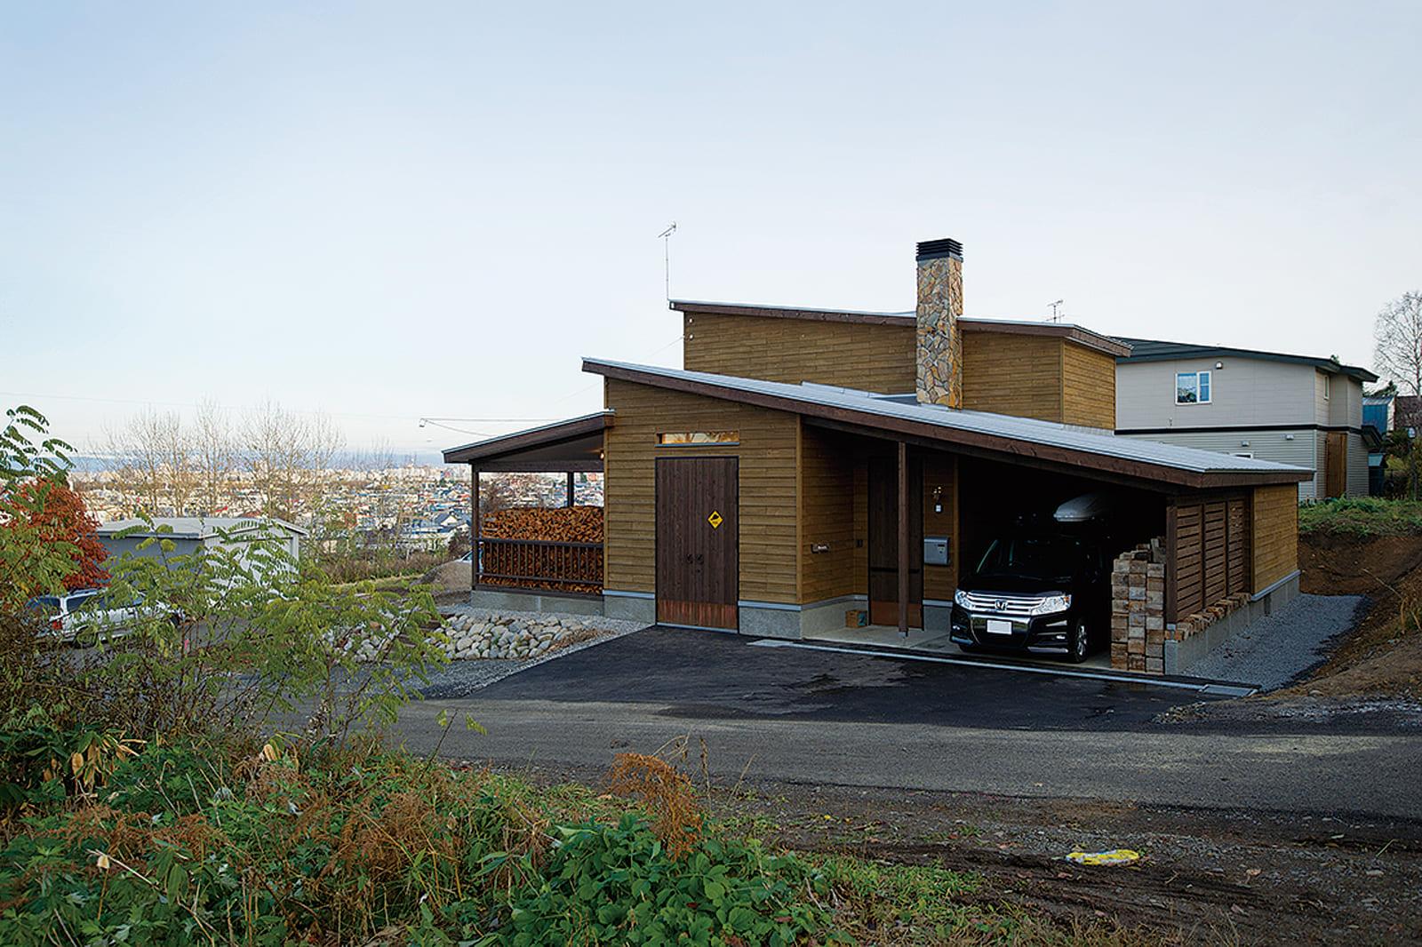
M974 896L1115 917L1180 944L1422 943L1422 829L1334 818L1091 801L761 786L722 805L798 850L937 863ZM1068 852L1128 847L1129 867Z

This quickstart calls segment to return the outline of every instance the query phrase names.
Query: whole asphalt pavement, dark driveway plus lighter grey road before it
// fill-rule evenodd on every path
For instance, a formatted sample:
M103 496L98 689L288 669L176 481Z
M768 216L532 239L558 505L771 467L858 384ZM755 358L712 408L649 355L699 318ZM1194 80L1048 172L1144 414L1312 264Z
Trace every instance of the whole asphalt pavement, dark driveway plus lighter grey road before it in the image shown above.
M1419 815L1422 741L1386 712L1216 715L1236 705L1165 683L771 644L653 627L486 685L486 663L455 663L398 729L414 752L556 774L685 741L728 783Z

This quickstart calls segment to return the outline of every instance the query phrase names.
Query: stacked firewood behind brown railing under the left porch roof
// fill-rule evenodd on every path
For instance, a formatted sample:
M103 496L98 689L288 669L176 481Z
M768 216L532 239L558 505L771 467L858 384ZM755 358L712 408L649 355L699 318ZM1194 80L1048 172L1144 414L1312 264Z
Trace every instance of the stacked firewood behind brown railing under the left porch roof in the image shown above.
M516 506L491 515L479 525L485 540L479 584L600 593L603 550L528 543L603 542L602 506Z

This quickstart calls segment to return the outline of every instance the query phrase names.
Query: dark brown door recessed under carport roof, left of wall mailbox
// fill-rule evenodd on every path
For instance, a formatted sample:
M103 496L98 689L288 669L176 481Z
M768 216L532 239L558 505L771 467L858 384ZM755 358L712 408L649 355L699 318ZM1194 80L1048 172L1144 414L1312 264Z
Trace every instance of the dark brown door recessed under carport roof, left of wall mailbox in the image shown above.
M923 627L923 466L909 458L909 627ZM869 461L869 621L899 624L899 462Z

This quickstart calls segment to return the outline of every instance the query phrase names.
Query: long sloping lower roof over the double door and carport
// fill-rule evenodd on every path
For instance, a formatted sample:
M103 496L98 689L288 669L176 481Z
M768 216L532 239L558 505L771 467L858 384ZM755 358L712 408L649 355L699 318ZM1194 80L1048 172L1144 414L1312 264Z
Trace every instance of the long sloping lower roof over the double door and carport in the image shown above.
M1079 468L1185 488L1297 483L1314 474L1287 464L1098 434L1049 421L919 404L913 395L876 395L809 382L792 385L594 358L583 360L583 371L789 411L815 424L875 437L904 437L1015 462Z

